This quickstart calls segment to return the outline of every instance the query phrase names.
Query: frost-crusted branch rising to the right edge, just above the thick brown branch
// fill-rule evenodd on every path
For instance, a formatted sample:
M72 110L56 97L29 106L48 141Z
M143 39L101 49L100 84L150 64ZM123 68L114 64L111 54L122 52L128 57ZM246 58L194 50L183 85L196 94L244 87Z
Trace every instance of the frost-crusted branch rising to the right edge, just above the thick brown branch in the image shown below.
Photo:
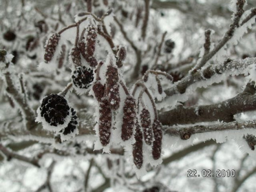
M227 75L239 75L239 74L247 74L248 66L256 63L256 57L246 58L246 59L236 59L231 60L227 59L221 64L210 65L207 68L204 68L200 71L193 72L188 76L184 77L182 80L175 83L174 86L165 90L167 96L172 96L178 93L185 93L186 89L195 84L198 81L207 81L209 84L216 82L210 78L214 77L219 82L222 78L226 78ZM223 76L223 74L225 74ZM204 83L204 86L209 85L207 82ZM202 84L199 84L196 87L202 87ZM195 89L196 89L195 87Z

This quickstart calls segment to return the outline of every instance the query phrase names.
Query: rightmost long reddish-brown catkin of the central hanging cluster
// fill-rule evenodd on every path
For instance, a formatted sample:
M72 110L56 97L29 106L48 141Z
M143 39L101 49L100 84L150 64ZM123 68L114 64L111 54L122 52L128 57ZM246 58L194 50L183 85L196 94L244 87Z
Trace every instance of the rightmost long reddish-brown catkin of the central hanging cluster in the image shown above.
M152 146L152 155L153 159L157 160L161 156L161 148L162 148L162 124L160 123L159 120L155 120L153 125L153 134L154 134L154 141L153 141L153 146Z

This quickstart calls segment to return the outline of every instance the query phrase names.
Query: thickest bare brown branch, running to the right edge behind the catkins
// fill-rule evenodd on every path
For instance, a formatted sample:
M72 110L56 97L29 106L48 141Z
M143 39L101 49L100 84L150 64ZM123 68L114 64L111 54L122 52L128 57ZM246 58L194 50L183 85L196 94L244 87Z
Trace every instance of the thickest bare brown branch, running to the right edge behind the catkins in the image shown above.
M160 113L159 119L164 125L218 120L234 121L233 115L256 110L255 92L254 82L248 83L242 93L231 99L216 104L191 106L189 108L179 105L176 109Z

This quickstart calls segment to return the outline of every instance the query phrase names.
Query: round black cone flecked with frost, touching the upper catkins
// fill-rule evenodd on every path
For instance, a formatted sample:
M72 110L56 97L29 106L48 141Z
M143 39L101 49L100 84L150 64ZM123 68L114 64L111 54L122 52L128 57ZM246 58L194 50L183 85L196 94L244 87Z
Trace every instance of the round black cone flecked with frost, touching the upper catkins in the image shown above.
M93 70L85 66L79 66L73 71L72 81L74 86L80 89L88 89L94 79Z

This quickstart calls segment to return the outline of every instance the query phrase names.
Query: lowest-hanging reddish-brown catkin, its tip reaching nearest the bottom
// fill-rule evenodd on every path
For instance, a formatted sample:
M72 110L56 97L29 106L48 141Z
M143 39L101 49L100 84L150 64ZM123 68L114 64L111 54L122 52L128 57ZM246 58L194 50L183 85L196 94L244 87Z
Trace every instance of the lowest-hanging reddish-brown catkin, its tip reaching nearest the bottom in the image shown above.
M143 164L143 150L142 150L142 144L143 144L143 135L140 131L140 125L138 122L138 119L136 121L135 126L135 143L133 144L133 162L136 165L138 169L142 167Z

